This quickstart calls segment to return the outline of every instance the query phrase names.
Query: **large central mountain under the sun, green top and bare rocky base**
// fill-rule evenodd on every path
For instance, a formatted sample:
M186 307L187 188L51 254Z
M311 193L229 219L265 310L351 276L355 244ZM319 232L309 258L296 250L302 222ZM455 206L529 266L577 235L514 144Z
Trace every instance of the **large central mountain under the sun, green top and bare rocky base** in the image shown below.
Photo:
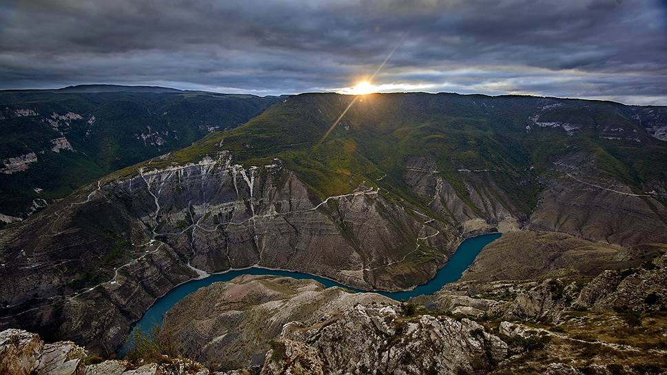
M260 265L402 290L485 232L667 243L667 108L371 94L336 123L352 100L283 98L8 225L0 327L104 352L201 270Z

